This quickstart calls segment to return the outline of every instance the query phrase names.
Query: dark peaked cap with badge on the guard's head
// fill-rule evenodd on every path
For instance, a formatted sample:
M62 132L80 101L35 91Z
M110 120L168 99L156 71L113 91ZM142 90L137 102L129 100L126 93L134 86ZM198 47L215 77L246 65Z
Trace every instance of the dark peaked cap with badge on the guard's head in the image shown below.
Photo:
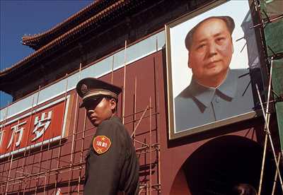
M80 107L84 107L88 101L97 100L101 97L111 97L118 100L118 95L121 91L120 87L100 81L97 78L83 78L76 85L76 92L83 98L83 103Z

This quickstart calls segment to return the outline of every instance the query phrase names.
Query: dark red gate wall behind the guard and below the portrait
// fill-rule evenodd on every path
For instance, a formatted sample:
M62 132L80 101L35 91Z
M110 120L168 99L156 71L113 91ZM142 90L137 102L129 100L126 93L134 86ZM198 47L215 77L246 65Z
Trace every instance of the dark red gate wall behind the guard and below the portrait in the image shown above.
M161 194L190 194L190 187L188 187L182 168L183 163L193 154L198 153L202 146L206 146L205 143L208 144L209 141L217 138L221 139L222 136L227 136L228 139L232 136L235 138L235 143L240 137L247 138L252 143L262 142L262 120L250 119L202 134L168 141L164 52L156 52L127 66L125 101L122 101L123 94L120 95L118 113L122 116L122 107L125 104L125 126L129 134L132 134L137 126L134 145L137 148L141 165L140 182L143 187L141 194L146 194L149 189L152 189L152 194L158 194L158 191ZM113 83L122 87L124 73L125 69L122 68L101 79L110 82L113 77ZM30 151L24 158L19 156L12 162L11 158L1 160L0 193L10 191L16 194L17 191L29 191L34 194L36 191L39 194L44 192L52 194L58 188L64 193L82 192L84 156L96 130L92 128L88 119L84 126L85 110L79 109L81 100L78 99L76 102L77 96L74 90L70 94L74 94L74 107L67 140L62 141L61 147L57 143L54 146L40 148L42 152L40 150ZM149 109L146 110L146 107ZM215 147L212 149L221 150ZM241 150L238 152L242 153ZM209 158L209 160L214 159ZM8 189L6 189L10 165L11 178L8 182ZM202 165L204 165L203 162ZM198 164L195 167L198 167Z

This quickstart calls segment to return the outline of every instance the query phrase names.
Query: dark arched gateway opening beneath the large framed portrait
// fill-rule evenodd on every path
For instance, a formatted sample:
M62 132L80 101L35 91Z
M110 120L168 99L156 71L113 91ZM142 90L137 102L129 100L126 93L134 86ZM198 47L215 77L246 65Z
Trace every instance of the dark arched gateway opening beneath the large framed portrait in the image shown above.
M250 184L258 190L262 153L262 146L242 136L214 138L187 158L170 194L229 195L239 183ZM272 154L267 152L262 194L272 194L275 170ZM281 194L280 190L278 185L275 194Z

